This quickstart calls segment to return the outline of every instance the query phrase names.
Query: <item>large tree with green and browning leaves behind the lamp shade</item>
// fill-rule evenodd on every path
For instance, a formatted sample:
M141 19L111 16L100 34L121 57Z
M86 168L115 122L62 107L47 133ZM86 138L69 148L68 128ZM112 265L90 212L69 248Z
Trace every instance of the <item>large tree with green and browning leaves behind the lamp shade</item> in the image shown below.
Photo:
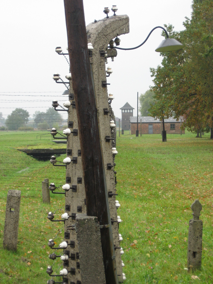
M213 127L213 5L208 0L194 0L192 18L184 22L185 30L173 31L170 37L181 41L180 51L161 53L162 66L151 68L157 100L151 106L152 116L183 116L183 127L189 130ZM198 130L198 129L197 129Z

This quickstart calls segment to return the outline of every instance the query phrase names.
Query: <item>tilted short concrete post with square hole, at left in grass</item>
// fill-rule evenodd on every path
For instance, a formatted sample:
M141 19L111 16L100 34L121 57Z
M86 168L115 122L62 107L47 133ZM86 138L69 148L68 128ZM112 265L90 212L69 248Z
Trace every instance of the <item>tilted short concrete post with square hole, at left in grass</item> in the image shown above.
M20 202L21 191L9 190L5 212L4 249L17 250Z

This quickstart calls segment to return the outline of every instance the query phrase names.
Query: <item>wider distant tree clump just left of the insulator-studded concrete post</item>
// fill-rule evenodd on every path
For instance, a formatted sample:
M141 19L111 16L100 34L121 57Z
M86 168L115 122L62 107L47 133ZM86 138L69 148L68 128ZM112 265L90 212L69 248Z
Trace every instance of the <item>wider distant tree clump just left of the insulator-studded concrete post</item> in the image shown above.
M53 107L48 108L46 112L36 111L34 113L34 122L39 129L52 128L53 125L59 125L62 120L62 116Z

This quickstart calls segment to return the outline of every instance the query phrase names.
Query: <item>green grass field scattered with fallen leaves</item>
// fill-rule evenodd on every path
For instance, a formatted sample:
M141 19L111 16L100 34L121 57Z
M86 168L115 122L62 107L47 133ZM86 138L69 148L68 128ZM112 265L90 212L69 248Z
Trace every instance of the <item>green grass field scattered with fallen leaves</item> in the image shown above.
M63 225L52 224L47 213L64 208L64 199L51 194L42 203L41 181L65 183L65 168L53 167L17 151L20 148L59 148L37 132L0 132L0 283L46 283L49 276L49 238L63 240ZM42 132L40 132L42 134ZM125 133L116 141L117 193L123 222L124 283L213 283L213 141L210 134L135 137ZM61 145L64 148L66 145ZM57 158L62 161L64 155ZM20 189L18 249L3 249L8 189ZM191 204L199 199L203 221L202 269L187 272L188 224ZM59 272L60 259L53 266ZM195 276L197 276L197 279ZM95 283L95 282L94 282Z

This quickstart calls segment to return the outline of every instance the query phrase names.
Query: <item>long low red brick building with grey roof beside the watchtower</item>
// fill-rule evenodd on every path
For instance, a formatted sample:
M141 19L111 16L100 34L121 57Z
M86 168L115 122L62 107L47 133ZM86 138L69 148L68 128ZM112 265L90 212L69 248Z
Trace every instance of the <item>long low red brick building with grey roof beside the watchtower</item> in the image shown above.
M180 134L181 120L172 117L164 119L166 134ZM137 130L137 117L130 117L131 134L135 134ZM142 134L160 134L163 130L162 122L159 119L154 120L151 116L138 117L138 130ZM182 134L185 131L182 130Z

